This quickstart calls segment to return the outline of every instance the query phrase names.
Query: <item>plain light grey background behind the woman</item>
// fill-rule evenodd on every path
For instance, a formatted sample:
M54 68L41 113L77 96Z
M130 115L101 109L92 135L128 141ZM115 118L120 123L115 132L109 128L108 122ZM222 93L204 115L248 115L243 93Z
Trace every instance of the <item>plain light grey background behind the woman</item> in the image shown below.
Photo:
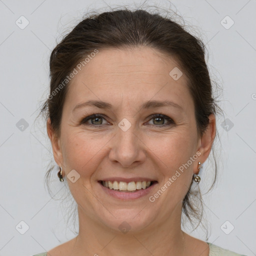
M0 0L0 255L32 255L75 236L70 225L65 227L68 206L63 209L64 202L52 200L45 190L43 177L52 158L51 147L43 121L34 121L48 93L48 60L56 39L59 41L87 10L123 3L133 1ZM219 99L225 116L220 116L217 124L222 143L218 179L214 189L203 195L210 223L208 241L256 255L256 1L171 3L174 7L166 0L156 5L171 6L192 25L193 33L201 34L209 51L212 78L223 86ZM21 23L21 15L29 21L24 29L15 23ZM223 19L227 15L234 21L228 29L221 24L221 20L230 24ZM230 122L223 124L226 118ZM52 184L56 196L61 197L65 187L56 173ZM210 173L203 166L202 190ZM28 230L21 234L26 225ZM234 229L226 234L231 225ZM202 229L191 234L204 239Z

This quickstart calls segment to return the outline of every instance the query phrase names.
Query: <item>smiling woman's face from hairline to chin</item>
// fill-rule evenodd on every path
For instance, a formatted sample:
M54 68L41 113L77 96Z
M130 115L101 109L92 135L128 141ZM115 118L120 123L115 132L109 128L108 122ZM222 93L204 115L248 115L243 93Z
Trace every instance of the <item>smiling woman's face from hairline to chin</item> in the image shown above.
M81 70L76 68L63 105L61 135L52 146L79 218L117 231L146 230L170 216L179 220L192 174L209 146L197 134L187 78L177 66L157 50L124 48L99 50ZM100 116L84 119L92 114ZM129 181L131 189L132 181L157 182L122 192L103 187L100 180ZM131 198L132 193L142 194Z

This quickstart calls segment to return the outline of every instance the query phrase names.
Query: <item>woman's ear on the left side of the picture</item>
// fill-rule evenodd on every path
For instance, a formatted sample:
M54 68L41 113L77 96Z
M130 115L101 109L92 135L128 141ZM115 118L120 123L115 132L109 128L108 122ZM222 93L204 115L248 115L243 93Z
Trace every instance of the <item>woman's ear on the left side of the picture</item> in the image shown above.
M63 157L62 157L62 151L60 147L60 141L59 138L56 136L54 133L51 123L50 123L50 118L47 119L47 134L51 142L51 147L52 147L52 152L53 152L53 157L55 162L57 163L58 166L63 166Z

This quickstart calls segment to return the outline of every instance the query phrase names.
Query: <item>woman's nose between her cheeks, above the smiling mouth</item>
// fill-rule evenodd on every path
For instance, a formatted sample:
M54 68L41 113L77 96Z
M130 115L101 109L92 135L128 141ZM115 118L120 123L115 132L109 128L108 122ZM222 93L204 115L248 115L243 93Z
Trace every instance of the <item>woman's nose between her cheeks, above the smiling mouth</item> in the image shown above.
M109 159L112 162L120 163L122 167L134 167L145 160L144 143L131 125L128 130L123 131L117 127L115 136L111 139Z

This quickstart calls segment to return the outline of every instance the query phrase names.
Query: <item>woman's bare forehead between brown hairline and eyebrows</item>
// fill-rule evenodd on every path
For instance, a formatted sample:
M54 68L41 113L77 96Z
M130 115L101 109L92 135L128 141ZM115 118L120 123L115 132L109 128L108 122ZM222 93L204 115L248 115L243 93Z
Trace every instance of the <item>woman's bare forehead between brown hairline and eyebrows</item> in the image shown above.
M192 102L184 72L174 58L158 50L148 47L101 49L83 65L80 70L76 68L78 72L68 86L69 102L91 98L127 99L134 103L150 98L172 99L183 102L183 106ZM182 75L173 79L172 70Z

